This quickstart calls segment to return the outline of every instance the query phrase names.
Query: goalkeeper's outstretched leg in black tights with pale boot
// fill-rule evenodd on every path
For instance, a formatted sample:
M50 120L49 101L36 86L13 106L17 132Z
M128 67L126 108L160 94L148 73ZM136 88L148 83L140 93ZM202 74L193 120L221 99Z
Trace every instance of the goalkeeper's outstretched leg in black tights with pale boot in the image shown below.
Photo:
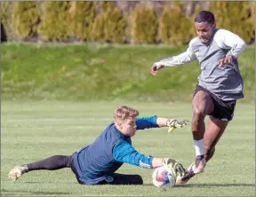
M38 162L32 162L32 163L24 164L21 166L17 166L11 169L8 177L10 177L13 181L15 181L28 171L40 170L40 169L56 170L56 169L70 168L71 161L72 161L72 155L69 155L69 156L55 155Z

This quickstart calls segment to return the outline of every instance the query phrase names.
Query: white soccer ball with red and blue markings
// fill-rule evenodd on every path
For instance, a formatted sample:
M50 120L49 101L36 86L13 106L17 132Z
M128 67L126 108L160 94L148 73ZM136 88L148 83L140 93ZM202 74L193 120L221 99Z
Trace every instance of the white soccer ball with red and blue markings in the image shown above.
M176 177L173 173L170 173L165 166L161 166L154 170L152 181L157 187L174 186Z

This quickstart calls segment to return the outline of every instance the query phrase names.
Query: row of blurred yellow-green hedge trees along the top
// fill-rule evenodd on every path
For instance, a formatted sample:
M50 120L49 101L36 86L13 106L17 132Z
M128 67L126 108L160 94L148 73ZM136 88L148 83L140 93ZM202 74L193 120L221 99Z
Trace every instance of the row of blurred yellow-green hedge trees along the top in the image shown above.
M255 2L1 2L1 42L184 44L194 18L212 11L217 28L255 39Z

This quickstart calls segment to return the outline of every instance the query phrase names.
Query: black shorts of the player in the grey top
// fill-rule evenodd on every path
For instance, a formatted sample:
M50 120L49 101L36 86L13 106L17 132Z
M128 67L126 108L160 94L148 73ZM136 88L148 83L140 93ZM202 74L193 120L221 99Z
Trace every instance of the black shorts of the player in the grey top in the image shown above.
M236 106L236 100L223 101L220 98L218 98L215 94L213 94L211 91L206 90L204 87L200 85L196 85L196 90L194 92L193 98L195 97L197 91L207 92L212 98L214 109L212 113L208 115L212 115L213 117L218 118L221 121L232 120Z

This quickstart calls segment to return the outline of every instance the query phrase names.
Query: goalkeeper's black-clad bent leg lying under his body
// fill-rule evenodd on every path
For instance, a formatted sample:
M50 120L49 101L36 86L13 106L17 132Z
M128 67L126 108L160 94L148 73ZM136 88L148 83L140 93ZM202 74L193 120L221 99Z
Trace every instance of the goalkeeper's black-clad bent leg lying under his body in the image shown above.
M140 175L124 175L114 173L100 182L100 185L143 185L143 179Z

